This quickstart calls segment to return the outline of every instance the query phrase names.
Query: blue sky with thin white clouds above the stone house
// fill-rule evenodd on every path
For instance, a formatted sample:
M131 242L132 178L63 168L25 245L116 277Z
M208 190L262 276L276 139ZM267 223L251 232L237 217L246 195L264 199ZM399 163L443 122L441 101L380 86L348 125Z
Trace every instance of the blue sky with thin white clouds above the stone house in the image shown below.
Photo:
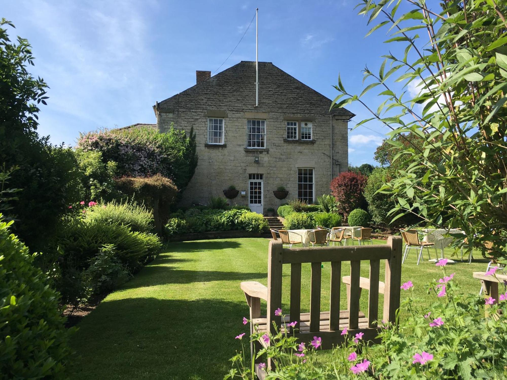
M30 68L50 86L39 131L53 143L74 144L79 132L154 123L152 105L195 84L195 70L214 72L236 46L259 7L259 60L276 66L333 99L338 73L359 93L361 68L378 68L391 46L339 1L79 1L3 0L37 58ZM220 71L255 60L255 21ZM365 100L377 108L375 93ZM358 122L368 115L347 107ZM354 123L350 123L352 127ZM349 162L375 164L386 131L375 122L349 134Z

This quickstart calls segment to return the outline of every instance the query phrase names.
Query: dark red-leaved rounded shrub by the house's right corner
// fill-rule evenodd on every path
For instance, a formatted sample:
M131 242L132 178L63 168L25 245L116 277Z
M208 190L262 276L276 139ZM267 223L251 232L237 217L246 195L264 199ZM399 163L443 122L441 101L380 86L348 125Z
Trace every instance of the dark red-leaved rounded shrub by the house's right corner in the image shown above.
M331 181L331 194L336 198L338 211L345 218L356 208L366 209L364 189L367 180L368 178L362 174L343 172Z

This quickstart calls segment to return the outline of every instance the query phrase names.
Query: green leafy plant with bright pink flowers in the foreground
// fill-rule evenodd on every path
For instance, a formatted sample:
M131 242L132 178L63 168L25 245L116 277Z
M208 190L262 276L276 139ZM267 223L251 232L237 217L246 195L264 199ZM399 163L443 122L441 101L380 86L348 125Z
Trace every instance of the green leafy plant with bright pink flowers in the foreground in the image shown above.
M329 360L322 361L315 355L322 344L319 336L307 346L278 330L252 334L252 340L270 342L267 349L256 353L274 363L273 368L264 363L266 378L506 378L507 292L504 289L499 295L499 304L491 297L463 294L454 273L447 273L446 263L447 259L437 263L442 278L426 285L428 297L434 300L429 308L417 306L421 302L416 302L420 300L413 290L421 285L408 281L401 286L408 294L401 309L408 316L395 324L380 322L379 344L365 341L361 333L352 336L344 328L345 342L332 350ZM495 276L495 269L488 275ZM485 305L490 307L487 316ZM281 313L277 310L276 314ZM249 321L243 318L245 322ZM245 349L249 347L231 358L232 368L225 378L253 378L253 364L249 353L243 354Z

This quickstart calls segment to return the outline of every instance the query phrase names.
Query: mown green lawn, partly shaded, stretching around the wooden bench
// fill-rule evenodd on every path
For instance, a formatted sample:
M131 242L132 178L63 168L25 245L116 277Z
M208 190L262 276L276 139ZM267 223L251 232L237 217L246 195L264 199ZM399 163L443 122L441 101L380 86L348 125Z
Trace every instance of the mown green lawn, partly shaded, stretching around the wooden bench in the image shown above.
M257 238L170 243L165 253L107 296L78 325L72 340L77 357L70 366L71 378L223 378L228 359L241 347L234 336L248 329L241 323L243 316L248 317L248 307L239 283L266 284L268 242ZM450 252L446 250L447 257ZM434 257L434 250L431 254ZM415 262L412 250L403 265L402 282L412 280L416 294L429 305L436 297L425 295L424 285L442 277L441 269L427 261L418 266ZM485 270L486 262L458 261L448 270L456 273L454 279L463 291L476 293L480 286L472 272ZM284 302L288 302L290 270L286 267ZM344 264L342 275L347 271ZM302 307L308 310L309 264L303 265L302 272ZM366 263L361 265L361 275L368 277ZM330 264L324 263L322 308L329 304L329 281ZM365 312L367 293L360 302ZM341 298L346 309L344 287ZM288 311L288 303L282 309Z

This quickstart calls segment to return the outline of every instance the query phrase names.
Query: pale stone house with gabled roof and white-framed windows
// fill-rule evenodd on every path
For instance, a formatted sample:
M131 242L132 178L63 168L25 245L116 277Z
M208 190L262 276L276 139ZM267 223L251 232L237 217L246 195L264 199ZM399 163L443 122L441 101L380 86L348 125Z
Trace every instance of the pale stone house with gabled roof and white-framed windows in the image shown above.
M197 137L199 163L181 205L206 204L233 185L231 204L263 213L288 200L308 204L329 194L331 179L348 168L347 125L354 116L282 71L240 63L211 77L196 71L196 85L154 105L157 129L171 125ZM273 191L283 186L286 199Z

